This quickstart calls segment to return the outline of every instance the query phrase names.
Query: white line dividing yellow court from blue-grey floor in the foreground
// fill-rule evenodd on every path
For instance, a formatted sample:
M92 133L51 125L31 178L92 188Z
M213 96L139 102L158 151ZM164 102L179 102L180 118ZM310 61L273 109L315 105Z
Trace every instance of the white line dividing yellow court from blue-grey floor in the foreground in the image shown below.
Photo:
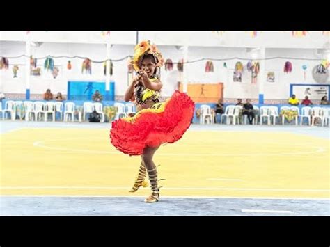
M146 196L113 196L113 195L0 195L5 197L65 197L65 198L145 198ZM260 199L260 200L329 200L330 198L278 198L278 197L237 197L237 196L161 196L162 198L196 198L196 199Z

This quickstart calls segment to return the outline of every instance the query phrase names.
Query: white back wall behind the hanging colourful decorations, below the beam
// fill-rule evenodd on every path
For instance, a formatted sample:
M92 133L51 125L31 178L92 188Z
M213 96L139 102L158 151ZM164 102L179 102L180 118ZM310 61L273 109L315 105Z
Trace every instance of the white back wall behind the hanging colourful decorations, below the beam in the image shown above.
M175 46L159 45L164 59L171 58L173 62L178 62L183 58L182 51ZM111 59L117 60L125 56L132 55L134 45L113 45L111 48ZM0 56L17 56L25 53L24 42L1 42ZM43 43L40 47L32 47L31 54L34 57L41 56L84 56L95 61L102 61L106 56L105 44L74 44L74 43ZM228 99L251 98L258 99L258 86L260 81L265 83L265 99L287 99L289 96L290 83L315 83L311 75L311 69L320 63L321 58L316 54L316 49L266 49L265 56L267 58L276 56L295 57L295 58L317 58L317 61L297 61L292 59L276 59L267 60L265 62L265 77L258 76L258 83L251 84L251 73L243 73L242 82L233 82L233 70L238 59L226 61L227 69L223 67L224 61L213 61L214 73L205 73L206 61L198 63L189 63L184 65L187 72L187 81L189 83L224 83L224 97ZM251 54L246 52L246 48L242 47L189 47L189 61L198 60L200 58L246 58L250 59ZM31 94L42 94L47 88L53 93L61 92L66 94L69 80L93 80L105 81L103 74L103 64L92 64L92 75L81 74L80 58L70 59L72 70L66 69L69 58L55 58L55 65L59 68L60 73L56 79L52 78L51 72L43 72L40 77L31 77ZM244 65L248 62L240 60ZM291 61L293 71L291 74L285 74L283 67L285 61ZM9 70L0 70L0 91L3 93L19 93L25 94L25 58L10 58ZM44 65L45 59L38 60L38 67ZM13 65L19 65L18 78L13 78ZM302 65L306 64L306 81L304 81L304 71ZM127 60L113 62L113 76L111 80L116 82L116 95L124 95L127 88ZM269 83L266 81L268 71L276 72L276 82ZM163 96L170 96L180 81L179 72L176 65L174 70L166 72L162 68L162 81L164 88ZM329 83L328 81L327 83Z

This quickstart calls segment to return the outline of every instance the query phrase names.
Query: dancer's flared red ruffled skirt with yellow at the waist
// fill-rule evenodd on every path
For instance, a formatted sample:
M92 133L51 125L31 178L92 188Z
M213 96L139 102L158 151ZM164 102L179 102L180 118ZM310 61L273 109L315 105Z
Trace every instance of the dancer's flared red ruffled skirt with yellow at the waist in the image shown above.
M112 122L111 143L129 155L141 155L147 146L175 143L189 128L194 109L190 97L176 90L166 102L143 109L132 118Z

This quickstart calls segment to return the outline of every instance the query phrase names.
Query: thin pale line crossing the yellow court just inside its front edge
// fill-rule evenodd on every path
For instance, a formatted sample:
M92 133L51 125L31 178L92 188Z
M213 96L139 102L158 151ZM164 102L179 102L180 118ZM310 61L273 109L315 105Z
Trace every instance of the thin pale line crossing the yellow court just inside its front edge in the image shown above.
M0 186L1 189L127 189L122 186ZM221 187L164 187L163 190L195 191L304 191L327 192L330 189L271 189L271 188L221 188Z

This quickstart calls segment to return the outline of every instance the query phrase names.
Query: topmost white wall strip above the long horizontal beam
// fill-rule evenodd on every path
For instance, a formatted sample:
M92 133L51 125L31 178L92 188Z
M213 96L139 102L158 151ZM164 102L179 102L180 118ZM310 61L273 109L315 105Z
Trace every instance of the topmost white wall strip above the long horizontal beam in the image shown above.
M101 31L31 31L31 40L40 42L104 43L107 36ZM0 40L22 41L26 31L0 31ZM189 45L196 47L269 47L269 48L326 48L330 36L322 31L308 31L305 37L292 37L291 31L139 31L139 40L152 40L158 45ZM115 45L134 45L136 31L111 31L110 42Z

